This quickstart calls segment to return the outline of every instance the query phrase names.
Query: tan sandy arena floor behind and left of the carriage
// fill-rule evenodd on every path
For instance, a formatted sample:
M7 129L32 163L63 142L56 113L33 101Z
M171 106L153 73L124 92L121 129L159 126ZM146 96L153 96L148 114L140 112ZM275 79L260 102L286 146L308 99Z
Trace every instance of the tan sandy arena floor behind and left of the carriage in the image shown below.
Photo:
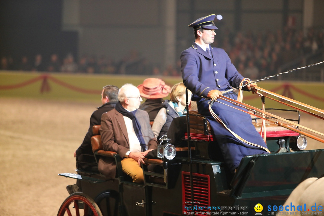
M73 153L98 103L0 97L0 215L55 216L75 180ZM324 132L322 120L301 124ZM324 144L309 140L307 149Z

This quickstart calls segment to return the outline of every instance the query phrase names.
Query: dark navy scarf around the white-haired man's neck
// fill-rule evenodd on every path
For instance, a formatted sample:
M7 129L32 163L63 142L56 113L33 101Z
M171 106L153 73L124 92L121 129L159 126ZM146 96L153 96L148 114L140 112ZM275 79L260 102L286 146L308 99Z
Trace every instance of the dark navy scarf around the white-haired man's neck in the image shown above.
M118 112L120 112L123 116L126 116L126 117L132 119L133 128L134 128L134 131L135 131L135 134L136 134L138 140L140 141L140 144L141 144L141 147L142 147L142 152L146 151L146 144L145 144L145 141L143 139L142 132L141 132L141 125L140 125L140 123L138 122L138 120L137 120L137 118L135 116L135 113L136 113L137 109L132 111L132 112L129 112L125 108L123 108L123 106L121 106L120 102L118 102L116 104L115 109Z

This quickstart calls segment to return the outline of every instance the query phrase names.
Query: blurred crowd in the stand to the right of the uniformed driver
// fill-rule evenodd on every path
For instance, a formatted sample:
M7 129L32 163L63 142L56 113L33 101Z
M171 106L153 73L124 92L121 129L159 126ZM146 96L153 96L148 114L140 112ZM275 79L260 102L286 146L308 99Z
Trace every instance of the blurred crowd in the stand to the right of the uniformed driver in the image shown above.
M319 52L322 59L324 31L313 28L307 32L284 28L257 34L226 31L219 47L227 52L238 72L256 79L277 74L283 65L299 67L307 55Z

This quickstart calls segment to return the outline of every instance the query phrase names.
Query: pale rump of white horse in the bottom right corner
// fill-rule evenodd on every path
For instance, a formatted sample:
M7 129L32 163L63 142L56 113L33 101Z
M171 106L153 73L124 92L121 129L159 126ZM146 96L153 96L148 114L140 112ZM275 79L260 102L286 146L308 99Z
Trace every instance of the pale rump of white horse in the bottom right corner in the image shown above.
M324 177L305 179L290 194L283 205L286 209L281 212L295 212L297 215L300 215L301 212L324 214L323 188Z

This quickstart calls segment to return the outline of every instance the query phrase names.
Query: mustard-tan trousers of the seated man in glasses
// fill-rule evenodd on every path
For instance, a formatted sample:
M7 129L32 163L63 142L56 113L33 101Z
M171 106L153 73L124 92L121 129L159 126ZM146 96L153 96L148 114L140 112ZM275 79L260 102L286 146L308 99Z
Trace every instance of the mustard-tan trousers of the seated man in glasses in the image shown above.
M144 183L143 170L137 161L133 158L124 158L121 160L122 171L127 175L131 176L133 182Z

